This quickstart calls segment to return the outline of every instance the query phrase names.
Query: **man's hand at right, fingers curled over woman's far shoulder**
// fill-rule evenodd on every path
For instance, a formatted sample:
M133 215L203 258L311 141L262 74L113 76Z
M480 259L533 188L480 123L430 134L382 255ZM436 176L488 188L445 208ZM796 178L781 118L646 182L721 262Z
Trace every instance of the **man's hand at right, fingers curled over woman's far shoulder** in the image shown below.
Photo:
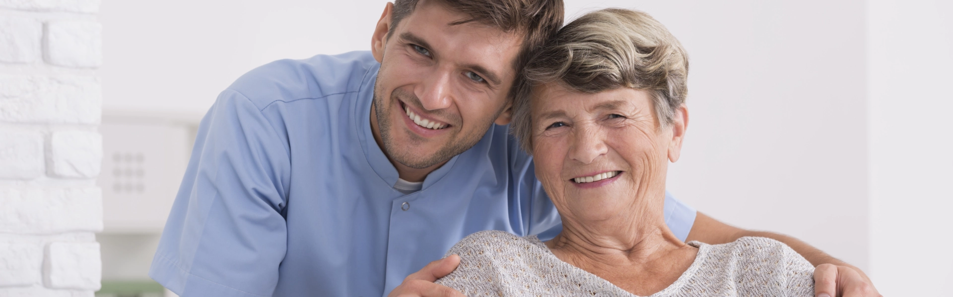
M814 268L814 296L882 297L870 279L853 267L821 264Z

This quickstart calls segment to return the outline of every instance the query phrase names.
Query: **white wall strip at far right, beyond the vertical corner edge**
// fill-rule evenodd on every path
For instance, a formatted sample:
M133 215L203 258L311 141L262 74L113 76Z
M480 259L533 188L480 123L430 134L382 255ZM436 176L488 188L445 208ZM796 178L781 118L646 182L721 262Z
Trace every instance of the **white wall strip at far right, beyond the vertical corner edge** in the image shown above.
M953 2L867 6L870 267L883 295L953 283Z

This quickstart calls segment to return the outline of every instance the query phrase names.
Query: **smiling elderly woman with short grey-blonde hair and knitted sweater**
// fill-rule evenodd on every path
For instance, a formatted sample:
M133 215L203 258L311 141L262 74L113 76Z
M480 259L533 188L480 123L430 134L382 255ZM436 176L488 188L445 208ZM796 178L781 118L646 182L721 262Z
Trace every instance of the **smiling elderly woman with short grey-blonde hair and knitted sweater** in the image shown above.
M437 281L474 296L813 296L781 242L682 243L664 222L668 161L688 126L684 49L646 13L570 23L525 69L514 133L562 218L551 241L482 231Z

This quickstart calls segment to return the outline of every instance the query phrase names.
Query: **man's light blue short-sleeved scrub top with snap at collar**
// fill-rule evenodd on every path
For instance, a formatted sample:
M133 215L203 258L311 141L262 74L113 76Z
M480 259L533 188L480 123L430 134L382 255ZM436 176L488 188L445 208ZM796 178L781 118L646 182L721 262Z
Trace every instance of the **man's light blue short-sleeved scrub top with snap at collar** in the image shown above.
M556 208L506 126L404 195L371 133L370 52L281 60L202 119L150 276L182 297L386 296L486 229L548 240ZM669 195L684 240L695 209Z

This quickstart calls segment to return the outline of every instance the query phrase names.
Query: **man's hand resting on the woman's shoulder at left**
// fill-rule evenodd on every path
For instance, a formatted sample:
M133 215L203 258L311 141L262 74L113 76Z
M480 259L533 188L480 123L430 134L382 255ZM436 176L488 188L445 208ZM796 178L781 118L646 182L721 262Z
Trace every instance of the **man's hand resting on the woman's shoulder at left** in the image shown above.
M420 271L408 275L387 297L466 297L456 289L434 284L436 279L450 274L458 265L460 256L457 255L431 262Z

